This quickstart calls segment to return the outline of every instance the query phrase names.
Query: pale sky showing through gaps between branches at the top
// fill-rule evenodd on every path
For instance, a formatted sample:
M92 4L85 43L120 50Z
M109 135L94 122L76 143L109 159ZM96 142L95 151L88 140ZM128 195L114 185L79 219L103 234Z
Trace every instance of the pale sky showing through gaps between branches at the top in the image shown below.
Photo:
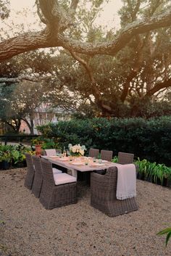
M24 8L29 8L30 10L33 10L33 12L36 11L36 7L34 7L35 0L11 0L10 3L12 9L18 12L23 12ZM97 18L96 22L98 22L98 24L100 25L107 25L108 28L118 28L120 25L120 19L117 15L117 12L120 9L120 7L122 7L122 0L109 0L109 4L105 4L104 12L101 14L100 18ZM31 23L32 21L35 20L33 12L30 12L29 17L22 17L21 14L18 17L16 17L16 15L13 15L13 13L12 17L16 24L19 24L20 21Z

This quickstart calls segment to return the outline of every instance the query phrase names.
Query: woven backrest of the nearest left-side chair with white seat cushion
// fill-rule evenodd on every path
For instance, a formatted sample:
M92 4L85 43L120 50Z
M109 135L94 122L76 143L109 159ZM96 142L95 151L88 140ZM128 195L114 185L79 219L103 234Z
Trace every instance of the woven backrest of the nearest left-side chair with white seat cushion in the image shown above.
M55 186L51 162L41 158L41 170L43 173L43 180L45 180L51 186Z

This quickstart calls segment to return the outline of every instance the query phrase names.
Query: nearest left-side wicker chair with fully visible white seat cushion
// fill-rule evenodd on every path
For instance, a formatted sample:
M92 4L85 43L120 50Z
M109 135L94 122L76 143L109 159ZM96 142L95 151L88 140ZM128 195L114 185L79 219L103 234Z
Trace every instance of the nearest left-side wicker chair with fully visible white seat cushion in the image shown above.
M40 202L46 209L75 204L76 178L67 173L54 174L51 162L41 159L43 170L43 184L41 188ZM56 185L57 184L57 185Z

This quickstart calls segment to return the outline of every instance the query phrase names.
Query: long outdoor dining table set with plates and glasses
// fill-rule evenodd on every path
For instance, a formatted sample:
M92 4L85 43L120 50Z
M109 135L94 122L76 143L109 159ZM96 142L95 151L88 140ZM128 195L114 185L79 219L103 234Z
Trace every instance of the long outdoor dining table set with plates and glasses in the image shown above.
M116 162L109 162L106 160L95 160L93 157L59 157L59 156L41 156L49 160L55 165L62 166L72 171L72 176L78 177L78 171L90 172L93 170L105 170L112 166L117 166Z

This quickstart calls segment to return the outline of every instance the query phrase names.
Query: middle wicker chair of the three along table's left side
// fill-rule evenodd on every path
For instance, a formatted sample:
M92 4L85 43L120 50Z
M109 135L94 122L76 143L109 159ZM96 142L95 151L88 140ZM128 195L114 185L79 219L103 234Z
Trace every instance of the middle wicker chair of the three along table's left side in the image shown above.
M32 193L35 197L40 197L41 194L41 186L43 183L43 173L41 169L41 158L32 156L33 165L35 167L35 176L33 180Z

